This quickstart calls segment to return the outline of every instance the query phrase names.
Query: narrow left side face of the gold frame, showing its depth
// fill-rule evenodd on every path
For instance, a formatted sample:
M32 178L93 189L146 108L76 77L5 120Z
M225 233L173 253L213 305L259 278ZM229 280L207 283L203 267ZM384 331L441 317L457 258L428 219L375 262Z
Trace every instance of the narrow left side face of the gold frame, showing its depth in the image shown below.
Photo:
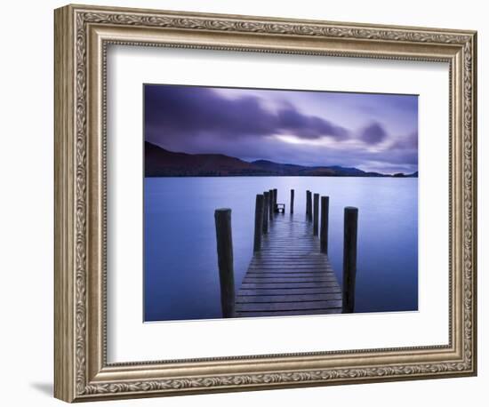
M54 10L54 397L76 397L75 59L71 6Z

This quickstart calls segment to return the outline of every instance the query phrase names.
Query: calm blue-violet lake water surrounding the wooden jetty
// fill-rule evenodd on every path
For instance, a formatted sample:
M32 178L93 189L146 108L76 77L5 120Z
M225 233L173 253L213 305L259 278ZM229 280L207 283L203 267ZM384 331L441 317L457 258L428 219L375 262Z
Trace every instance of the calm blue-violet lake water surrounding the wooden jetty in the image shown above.
M236 290L253 254L256 194L304 216L306 190L330 196L329 257L342 282L343 208L358 207L356 312L418 308L418 180L329 177L147 178L145 321L220 318L214 210L232 210Z

